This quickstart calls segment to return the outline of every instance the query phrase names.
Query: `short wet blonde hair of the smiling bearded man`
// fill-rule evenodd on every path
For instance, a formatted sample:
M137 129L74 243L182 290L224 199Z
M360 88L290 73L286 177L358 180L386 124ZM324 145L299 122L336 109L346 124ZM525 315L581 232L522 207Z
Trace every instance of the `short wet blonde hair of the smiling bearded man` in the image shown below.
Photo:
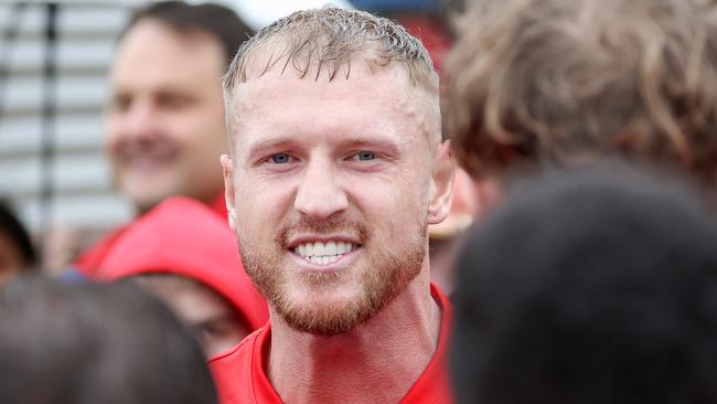
M259 76L278 65L282 73L291 68L301 78L318 81L324 73L333 81L349 78L356 60L372 71L399 63L414 85L438 92L438 75L428 51L403 26L364 11L327 6L279 19L246 41L223 78L225 105L232 105L234 91L246 82L249 67L258 68Z

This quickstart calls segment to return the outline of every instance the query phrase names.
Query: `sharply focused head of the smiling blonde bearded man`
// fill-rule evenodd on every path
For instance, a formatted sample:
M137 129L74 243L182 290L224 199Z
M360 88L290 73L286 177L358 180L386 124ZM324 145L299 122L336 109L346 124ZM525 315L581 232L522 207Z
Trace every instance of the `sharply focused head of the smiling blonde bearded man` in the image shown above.
M428 283L453 166L419 41L362 11L296 12L242 46L224 91L229 223L277 319L344 333Z

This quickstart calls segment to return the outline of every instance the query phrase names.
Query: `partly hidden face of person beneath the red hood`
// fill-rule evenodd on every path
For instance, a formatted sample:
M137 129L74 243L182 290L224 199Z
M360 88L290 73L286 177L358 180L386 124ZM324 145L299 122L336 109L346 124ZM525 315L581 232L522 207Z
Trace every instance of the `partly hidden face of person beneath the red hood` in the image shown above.
M175 275L139 276L135 280L164 301L186 325L207 359L226 352L249 333L232 305L201 283Z

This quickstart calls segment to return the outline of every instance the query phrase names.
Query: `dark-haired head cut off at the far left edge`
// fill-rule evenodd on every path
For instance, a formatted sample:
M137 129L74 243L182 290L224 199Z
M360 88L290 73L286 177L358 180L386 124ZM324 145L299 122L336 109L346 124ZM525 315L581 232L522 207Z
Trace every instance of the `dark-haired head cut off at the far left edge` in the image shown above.
M35 266L30 234L10 208L0 201L0 285Z

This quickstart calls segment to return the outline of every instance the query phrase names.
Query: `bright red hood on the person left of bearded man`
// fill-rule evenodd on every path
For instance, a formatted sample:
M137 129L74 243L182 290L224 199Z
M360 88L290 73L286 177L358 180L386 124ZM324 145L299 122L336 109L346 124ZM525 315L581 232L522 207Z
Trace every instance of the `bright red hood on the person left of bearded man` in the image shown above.
M266 300L239 261L226 221L205 204L171 198L130 224L95 272L98 280L168 273L199 280L225 297L252 330L269 318Z

